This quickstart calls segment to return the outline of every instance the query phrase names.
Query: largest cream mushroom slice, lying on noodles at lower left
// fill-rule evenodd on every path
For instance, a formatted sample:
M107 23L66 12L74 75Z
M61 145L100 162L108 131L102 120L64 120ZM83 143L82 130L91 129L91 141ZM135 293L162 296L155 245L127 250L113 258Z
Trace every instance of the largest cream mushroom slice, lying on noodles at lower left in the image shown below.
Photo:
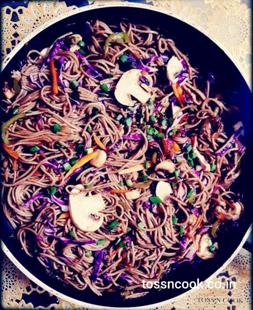
M77 185L83 189L82 184ZM106 208L101 194L86 196L78 188L73 188L69 195L69 210L72 222L84 232L94 232L102 224L104 215L99 211Z

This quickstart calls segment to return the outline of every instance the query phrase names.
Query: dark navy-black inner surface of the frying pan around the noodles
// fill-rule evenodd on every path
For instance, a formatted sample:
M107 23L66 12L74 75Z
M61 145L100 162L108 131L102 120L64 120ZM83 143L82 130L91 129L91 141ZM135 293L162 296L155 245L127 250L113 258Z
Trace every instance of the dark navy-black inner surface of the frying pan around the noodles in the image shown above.
M73 11L73 15L63 20L51 24L39 32L35 37L23 46L16 55L12 57L2 72L1 80L4 80L9 71L15 68L17 61L25 59L26 54L31 49L42 50L48 47L59 36L72 31L73 33L83 34L86 20L100 19L107 24L115 24L126 19L133 23L146 24L152 29L158 29L168 38L172 38L176 46L184 53L188 53L192 66L200 69L201 74L205 76L209 71L216 76L216 92L224 95L228 104L237 105L240 114L232 115L241 119L245 126L244 144L247 148L245 156L245 167L241 177L233 184L237 189L243 192L243 202L245 211L242 219L239 220L239 227L228 227L227 233L224 232L219 240L219 252L214 259L206 261L197 261L191 265L183 263L175 270L171 270L165 277L165 280L173 281L203 281L210 277L228 260L233 253L238 250L238 246L251 224L252 214L252 109L251 109L251 91L243 79L241 73L228 58L228 56L203 33L192 26L180 21L172 16L166 15L154 9L140 8L138 5L121 5L115 7L99 7L89 9L89 11ZM145 297L134 300L122 300L119 294L103 293L102 297L97 297L89 289L84 291L76 290L74 287L63 284L57 279L55 272L45 272L45 268L36 258L28 257L21 250L21 245L16 239L16 232L13 232L10 224L2 216L2 241L9 249L9 253L24 266L32 275L38 278L53 290L60 292L70 298L81 302L91 303L105 307L133 307L146 306L163 302L174 298L186 290L154 290ZM57 293L56 293L57 294Z

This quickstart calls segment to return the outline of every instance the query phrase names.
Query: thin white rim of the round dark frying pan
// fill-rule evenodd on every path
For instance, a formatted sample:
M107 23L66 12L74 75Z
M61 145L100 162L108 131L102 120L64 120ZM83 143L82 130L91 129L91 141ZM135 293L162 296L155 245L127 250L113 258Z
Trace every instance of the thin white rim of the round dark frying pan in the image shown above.
M29 35L27 35L6 57L6 59L2 62L1 65L1 72L2 70L7 66L7 64L11 61L11 59L14 57L14 55L16 55L16 53L27 43L29 42L32 38L34 38L38 33L40 33L41 31L43 31L44 29L46 29L47 27L51 26L52 24L55 24L56 22L63 20L66 17L69 17L71 15L75 15L78 14L80 12L85 12L85 11L90 11L93 9L99 9L101 7L135 7L135 8L143 8L143 9L147 9L150 11L156 11L156 12L160 12L163 13L165 15L169 15L172 16L178 20L182 20L183 22L185 22L186 24L191 25L192 27L194 27L195 29L199 30L201 33L205 34L208 38L210 38L217 46L219 46L224 53L230 58L230 60L233 61L233 56L232 54L225 48L222 47L222 43L219 42L218 40L216 40L214 37L210 36L210 34L208 34L204 29L199 29L197 27L197 25L195 25L194 23L185 20L184 18L182 18L179 15L176 14L172 14L170 12L168 12L166 9L163 8L157 8L157 7L153 7L151 5L147 5L147 4L142 4L142 3L125 3L125 2L111 2L111 3L106 3L106 4L95 4L95 5L90 5L90 6L86 6L86 7L81 7L69 12L66 12L60 16L56 16L54 17L52 20L48 20L46 23L44 23L43 25L39 26L37 29L35 29L32 33L30 33ZM235 63L234 63L235 64ZM236 64L235 64L236 65ZM237 67L237 66L236 66ZM247 78L244 76L243 72L240 70L240 68L237 67L237 69L239 70L239 72L242 74L244 80L246 81L247 85L249 86L249 88L251 89L251 84L249 81L247 81ZM239 251L241 250L243 244L245 243L245 241L247 240L248 236L250 235L252 229L252 224L250 226L250 228L247 230L246 234L244 235L242 241L240 242L239 246L237 247L237 249L234 251L234 253L225 261L225 263L215 272L213 273L209 278L207 278L204 283L207 283L208 281L210 281L213 277L217 276L233 259L234 257L239 253ZM91 303L85 303L83 301L80 301L78 299L74 299L71 298L65 294L62 294L60 292L58 292L57 290L53 290L50 286L47 286L45 283L43 283L42 281L40 281L38 278L36 278L32 273L30 273L17 259L16 257L11 253L11 251L7 248L7 246L4 244L4 242L1 240L1 247L3 252L7 255L7 257L12 261L12 263L14 263L14 265L25 274L25 276L27 276L30 280L34 281L37 285L41 286L44 290L56 295L58 298L64 299L70 303L75 303L76 305L79 305L81 307L86 307L86 308L91 308L91 309L96 309L96 310L149 310L150 308L155 308L158 306L163 306L166 305L167 303L171 303L174 302L178 299L183 298L184 296L186 296L187 294L192 293L193 291L197 290L196 288L193 288L191 290L186 291L183 294L180 294L172 299L168 299L162 302L158 302L158 303L154 303L154 304L150 304L150 305L145 305L145 306L140 306L140 307L105 307L105 306L99 306L99 305L95 305L95 304L91 304Z

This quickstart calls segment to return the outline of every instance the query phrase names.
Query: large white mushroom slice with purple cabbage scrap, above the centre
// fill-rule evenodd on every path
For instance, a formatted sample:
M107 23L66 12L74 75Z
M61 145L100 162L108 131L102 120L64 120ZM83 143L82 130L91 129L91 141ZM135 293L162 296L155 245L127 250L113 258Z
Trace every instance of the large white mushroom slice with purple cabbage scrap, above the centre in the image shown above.
M132 107L134 103L131 95L141 103L147 102L150 94L139 85L140 76L142 76L142 70L140 69L131 69L122 75L114 92L115 98L119 103Z

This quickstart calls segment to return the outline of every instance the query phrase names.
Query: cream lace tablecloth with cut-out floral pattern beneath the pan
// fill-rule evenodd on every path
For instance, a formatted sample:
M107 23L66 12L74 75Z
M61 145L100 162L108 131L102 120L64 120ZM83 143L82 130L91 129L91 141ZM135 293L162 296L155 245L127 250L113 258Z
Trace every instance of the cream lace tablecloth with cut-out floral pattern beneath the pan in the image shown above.
M122 0L124 2L125 0ZM115 1L112 1L115 3ZM120 1L119 1L120 2ZM132 0L177 15L214 38L251 86L251 0ZM67 11L107 0L2 2L2 59L35 28ZM251 309L251 253L242 249L213 281L236 281L236 289L199 289L158 310ZM2 307L24 309L84 309L47 293L2 256ZM221 300L221 302L219 302ZM222 302L222 300L224 302ZM86 309L86 308L85 308Z

